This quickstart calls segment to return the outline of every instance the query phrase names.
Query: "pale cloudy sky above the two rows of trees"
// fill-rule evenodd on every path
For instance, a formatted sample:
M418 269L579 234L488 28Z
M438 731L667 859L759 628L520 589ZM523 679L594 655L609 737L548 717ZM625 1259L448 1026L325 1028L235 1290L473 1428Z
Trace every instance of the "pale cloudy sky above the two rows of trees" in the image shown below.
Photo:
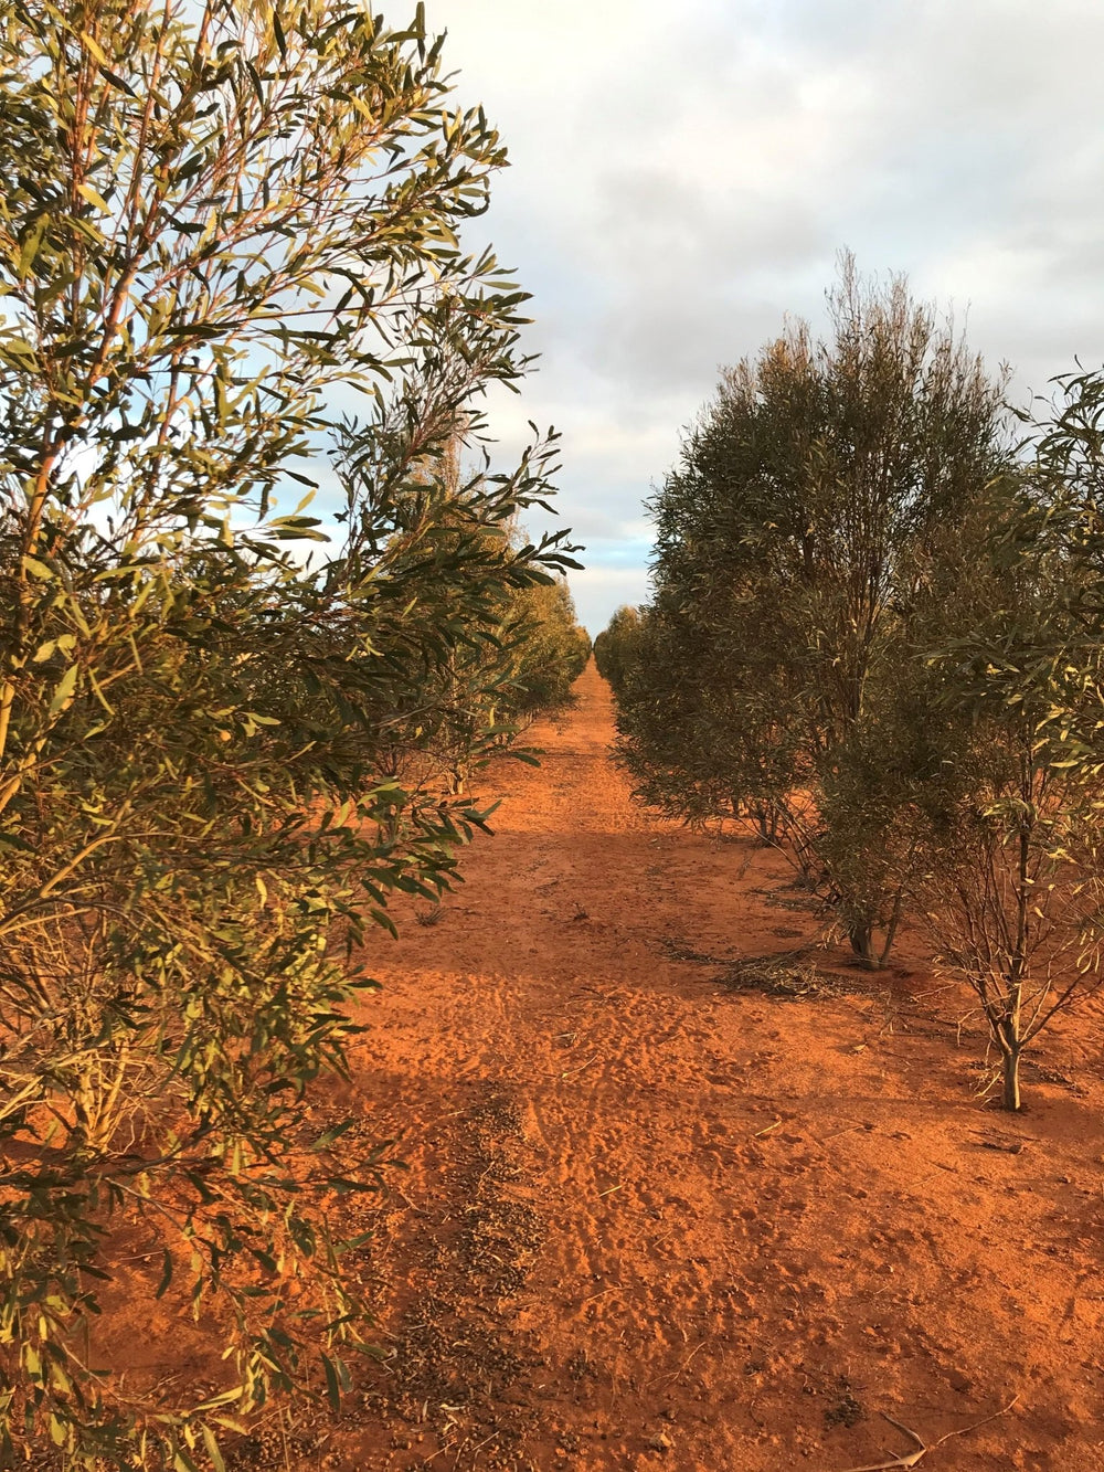
M427 12L509 147L480 224L534 294L542 367L495 422L503 447L526 418L562 431L592 633L646 596L642 499L718 368L785 314L823 321L841 247L952 306L1020 403L1104 359L1101 0Z

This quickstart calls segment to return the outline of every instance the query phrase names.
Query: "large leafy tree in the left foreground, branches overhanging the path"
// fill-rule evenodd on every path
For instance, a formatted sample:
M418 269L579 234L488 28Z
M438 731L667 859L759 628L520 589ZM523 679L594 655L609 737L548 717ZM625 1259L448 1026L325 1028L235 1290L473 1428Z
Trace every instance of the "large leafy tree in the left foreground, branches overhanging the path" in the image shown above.
M300 1101L486 820L439 736L500 745L503 605L573 564L509 533L551 443L452 474L524 297L459 249L505 156L421 7L0 0L0 72L3 1451L188 1469L349 1384L333 1203L380 1158ZM334 545L277 503L327 458ZM93 1372L135 1222L215 1397Z

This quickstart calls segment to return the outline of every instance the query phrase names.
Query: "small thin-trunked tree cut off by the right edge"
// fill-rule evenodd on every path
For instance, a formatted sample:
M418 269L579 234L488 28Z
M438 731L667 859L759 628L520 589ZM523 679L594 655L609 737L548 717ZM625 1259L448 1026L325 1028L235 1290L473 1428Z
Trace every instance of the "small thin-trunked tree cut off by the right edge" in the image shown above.
M976 994L1020 1107L1023 1051L1100 985L1100 378L1069 380L982 534L945 546L927 609L939 779L917 882L941 964Z

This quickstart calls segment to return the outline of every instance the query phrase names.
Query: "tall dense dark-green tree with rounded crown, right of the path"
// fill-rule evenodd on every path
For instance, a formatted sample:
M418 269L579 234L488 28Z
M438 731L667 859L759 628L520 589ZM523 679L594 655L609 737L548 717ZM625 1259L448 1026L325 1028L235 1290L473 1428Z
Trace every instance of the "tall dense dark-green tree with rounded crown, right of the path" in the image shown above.
M879 682L908 658L924 548L1007 446L1001 386L901 280L879 291L845 259L830 306L829 343L798 324L724 375L652 502L620 751L665 811L786 836L876 964L902 895L894 813L923 761L898 740L882 780L896 698Z

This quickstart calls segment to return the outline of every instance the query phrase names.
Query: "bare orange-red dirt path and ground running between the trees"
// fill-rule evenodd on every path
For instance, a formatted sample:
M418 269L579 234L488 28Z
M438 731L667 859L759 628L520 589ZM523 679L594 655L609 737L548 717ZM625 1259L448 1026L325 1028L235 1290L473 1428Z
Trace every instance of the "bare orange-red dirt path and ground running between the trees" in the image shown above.
M807 896L639 810L577 689L374 960L343 1103L406 1161L364 1256L390 1359L272 1466L842 1472L917 1450L888 1413L924 1472L1104 1469L1100 1011L1011 1117L914 941L740 973L814 942Z

